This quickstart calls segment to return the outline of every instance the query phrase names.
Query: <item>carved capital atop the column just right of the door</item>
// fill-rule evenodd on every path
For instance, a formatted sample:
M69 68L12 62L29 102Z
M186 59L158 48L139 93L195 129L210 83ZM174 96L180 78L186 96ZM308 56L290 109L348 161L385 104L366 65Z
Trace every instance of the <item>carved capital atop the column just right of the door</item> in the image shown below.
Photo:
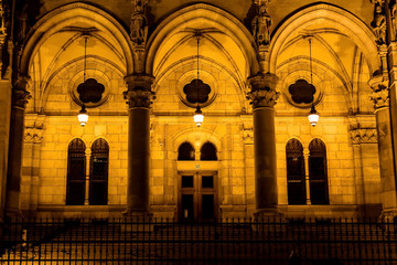
M247 94L247 99L250 99L253 108L258 107L273 107L279 97L279 92L276 92L278 77L275 74L257 74L248 77L248 83L251 87Z

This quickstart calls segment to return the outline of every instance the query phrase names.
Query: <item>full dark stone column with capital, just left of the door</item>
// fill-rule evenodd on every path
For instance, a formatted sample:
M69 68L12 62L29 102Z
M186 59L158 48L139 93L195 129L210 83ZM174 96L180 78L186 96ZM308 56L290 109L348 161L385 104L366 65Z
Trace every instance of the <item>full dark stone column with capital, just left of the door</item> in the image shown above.
M125 77L128 91L128 186L126 215L149 214L150 104L154 99L148 75Z

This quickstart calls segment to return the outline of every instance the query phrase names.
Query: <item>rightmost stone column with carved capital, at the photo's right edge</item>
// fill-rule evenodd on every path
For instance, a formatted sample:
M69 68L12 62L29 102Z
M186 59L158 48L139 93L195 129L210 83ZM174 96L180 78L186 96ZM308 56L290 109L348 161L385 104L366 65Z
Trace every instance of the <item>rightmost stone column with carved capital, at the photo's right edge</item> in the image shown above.
M383 76L369 81L373 88L372 99L375 107L376 129L378 135L378 152L382 186L383 216L397 215L397 193L395 165L393 157L389 88Z

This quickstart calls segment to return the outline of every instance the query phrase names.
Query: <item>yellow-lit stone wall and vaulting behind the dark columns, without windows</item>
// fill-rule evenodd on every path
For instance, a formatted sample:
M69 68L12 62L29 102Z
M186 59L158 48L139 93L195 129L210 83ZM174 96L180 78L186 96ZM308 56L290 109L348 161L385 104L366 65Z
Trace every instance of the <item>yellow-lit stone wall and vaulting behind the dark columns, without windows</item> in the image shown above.
M129 36L132 3L93 1L92 6L73 3L56 10L68 2L42 1L37 18L44 19L32 31L32 41L22 56L21 67L32 77L22 210L64 215L119 214L127 202L128 178L124 78L138 71ZM279 77L275 126L280 211L291 216L379 213L376 121L367 84L380 67L369 30L373 6L362 1L311 2L269 2L272 42L261 57L251 35L255 7L250 1L205 1L210 4L193 8L190 1L149 1L148 30L152 35L140 59L147 60L143 72L155 77L152 89L157 98L150 117L150 205L155 215L173 218L178 213L179 178L195 171L216 172L219 216L246 216L256 211L253 107L246 96L250 89L247 78L260 67ZM56 28L61 22L62 26ZM87 29L90 36L84 66L83 35ZM198 54L197 29L202 34ZM41 40L41 31L51 34ZM77 86L84 82L84 73L86 78L104 84L105 92L99 103L87 104L89 120L82 128L76 118L82 105ZM192 117L196 105L189 103L183 92L197 75L211 87L208 100L201 105L205 118L200 128ZM289 92L297 80L316 88L313 104L320 121L315 127L307 118L311 103L294 103ZM9 104L8 92L1 93L0 103ZM1 120L6 119L7 115ZM0 136L8 138L7 131ZM109 145L108 206L65 205L67 148L75 138L87 147L87 176L93 142L104 138ZM288 205L286 145L291 138L302 144L305 160L312 139L325 144L330 205ZM194 146L195 161L178 161L178 148L184 141ZM217 148L218 161L200 161L198 150L206 141ZM6 144L0 141L0 148L7 152Z

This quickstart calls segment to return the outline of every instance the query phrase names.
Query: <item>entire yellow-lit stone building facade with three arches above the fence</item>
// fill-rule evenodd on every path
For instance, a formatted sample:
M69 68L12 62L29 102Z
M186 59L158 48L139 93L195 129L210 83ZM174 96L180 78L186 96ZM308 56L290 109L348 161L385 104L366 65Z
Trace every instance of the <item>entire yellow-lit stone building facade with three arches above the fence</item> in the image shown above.
M0 2L2 216L396 215L394 0Z

